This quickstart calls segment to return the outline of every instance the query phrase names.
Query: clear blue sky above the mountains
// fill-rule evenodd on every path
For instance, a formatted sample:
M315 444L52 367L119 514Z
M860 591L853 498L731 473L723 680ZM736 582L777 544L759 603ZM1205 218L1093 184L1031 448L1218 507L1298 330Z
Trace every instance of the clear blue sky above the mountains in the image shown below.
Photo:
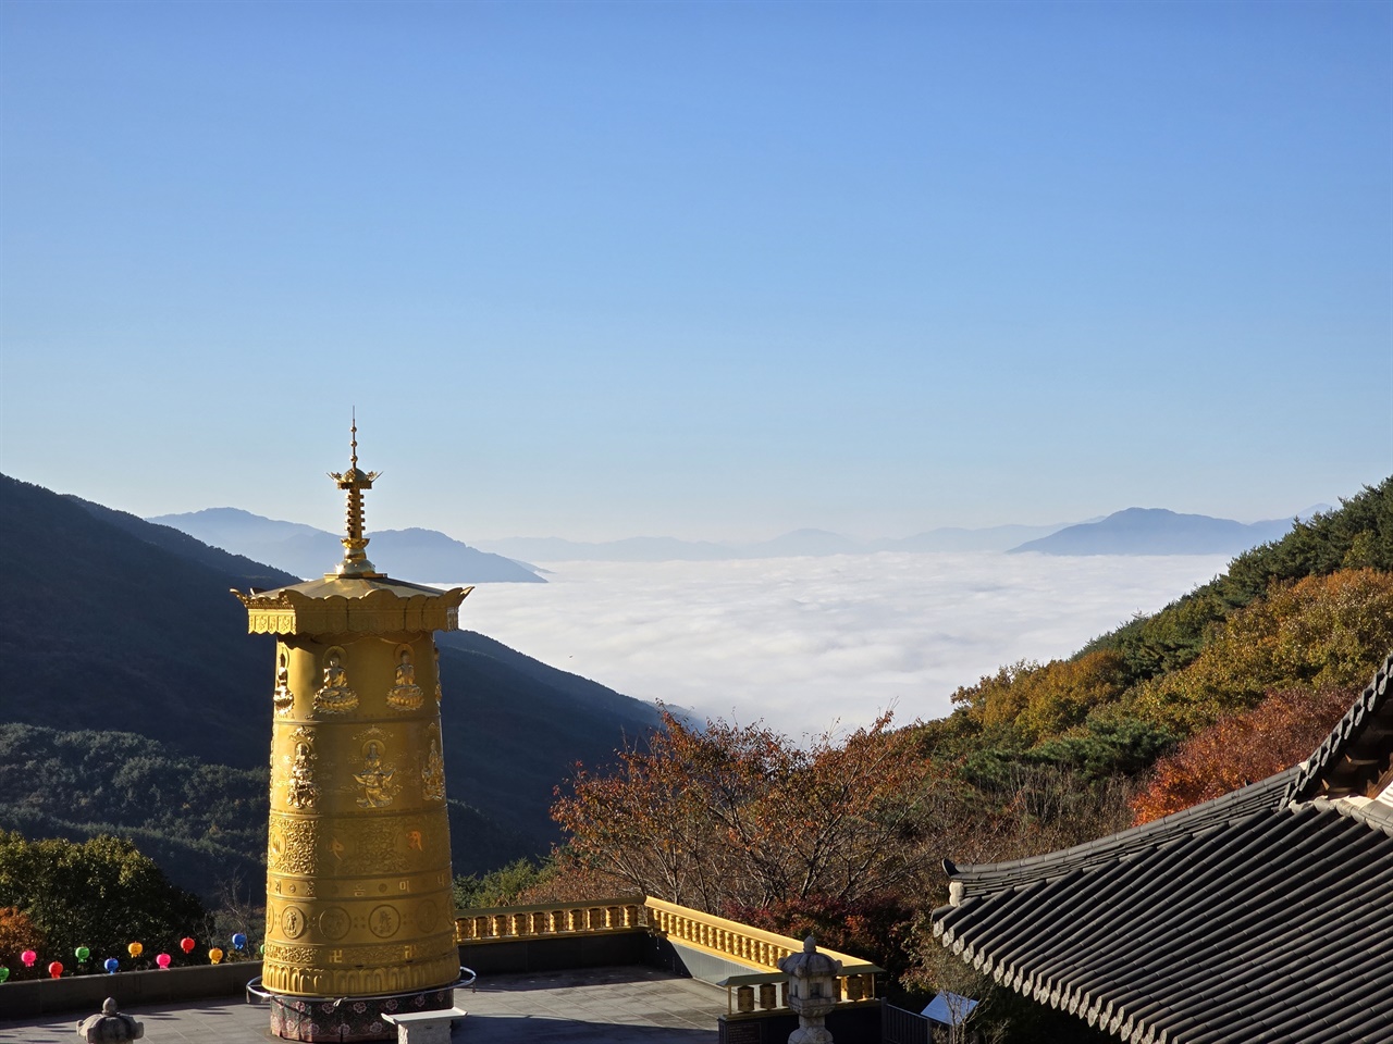
M1251 521L1390 393L1390 4L0 1L0 470L142 515Z

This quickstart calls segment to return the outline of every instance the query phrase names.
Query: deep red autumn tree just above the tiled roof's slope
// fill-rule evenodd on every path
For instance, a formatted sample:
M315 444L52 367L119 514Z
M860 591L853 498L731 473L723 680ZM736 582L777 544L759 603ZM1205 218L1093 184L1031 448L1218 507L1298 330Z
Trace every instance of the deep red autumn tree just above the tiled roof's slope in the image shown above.
M1135 823L1169 816L1300 763L1348 710L1357 689L1286 689L1227 714L1156 763L1133 799Z

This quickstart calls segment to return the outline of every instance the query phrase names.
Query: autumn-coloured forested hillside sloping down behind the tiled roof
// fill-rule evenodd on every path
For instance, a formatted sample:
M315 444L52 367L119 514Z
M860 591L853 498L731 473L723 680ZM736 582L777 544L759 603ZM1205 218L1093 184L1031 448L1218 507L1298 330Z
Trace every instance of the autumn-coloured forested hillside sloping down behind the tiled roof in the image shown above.
M1011 1040L1085 1040L1071 1016L995 988L928 937L943 860L1055 851L1286 768L1390 649L1393 479L1073 657L963 686L937 721L797 748L762 725L669 718L616 770L570 781L553 807L570 844L547 867L482 891L634 889L812 930L892 969L898 988L990 998Z

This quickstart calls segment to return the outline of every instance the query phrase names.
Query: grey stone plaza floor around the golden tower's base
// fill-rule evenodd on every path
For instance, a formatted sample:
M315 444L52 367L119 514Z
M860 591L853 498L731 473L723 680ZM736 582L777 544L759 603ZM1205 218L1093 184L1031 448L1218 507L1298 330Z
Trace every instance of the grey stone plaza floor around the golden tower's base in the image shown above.
M713 1044L726 991L651 967L596 967L481 977L472 991L456 990L454 1006L468 1016L451 1044ZM235 999L121 1011L145 1023L148 1044L279 1040L265 1005ZM86 1015L95 1012L0 1022L0 1044L72 1044Z

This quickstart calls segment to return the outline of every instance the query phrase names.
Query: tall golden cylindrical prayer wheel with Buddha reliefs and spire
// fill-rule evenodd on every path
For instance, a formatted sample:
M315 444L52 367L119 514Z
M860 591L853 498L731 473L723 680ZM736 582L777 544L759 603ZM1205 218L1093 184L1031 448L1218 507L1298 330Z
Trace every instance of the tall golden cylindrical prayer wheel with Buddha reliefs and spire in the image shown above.
M302 1041L394 1038L382 1012L449 1008L460 976L433 632L471 589L373 569L357 445L338 569L234 592L277 636L262 987Z

